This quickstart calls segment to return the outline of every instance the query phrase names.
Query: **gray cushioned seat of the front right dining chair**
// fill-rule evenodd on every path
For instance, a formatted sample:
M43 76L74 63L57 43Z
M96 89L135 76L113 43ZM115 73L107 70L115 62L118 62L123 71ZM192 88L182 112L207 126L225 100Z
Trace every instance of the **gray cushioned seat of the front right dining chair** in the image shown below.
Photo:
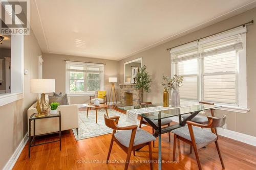
M181 136L181 137L191 141L189 130L188 130L187 126L175 129L172 132L178 136ZM216 134L211 133L210 131L202 129L202 128L193 127L193 132L194 132L195 141L197 144L207 143L207 142L210 142L217 138Z

